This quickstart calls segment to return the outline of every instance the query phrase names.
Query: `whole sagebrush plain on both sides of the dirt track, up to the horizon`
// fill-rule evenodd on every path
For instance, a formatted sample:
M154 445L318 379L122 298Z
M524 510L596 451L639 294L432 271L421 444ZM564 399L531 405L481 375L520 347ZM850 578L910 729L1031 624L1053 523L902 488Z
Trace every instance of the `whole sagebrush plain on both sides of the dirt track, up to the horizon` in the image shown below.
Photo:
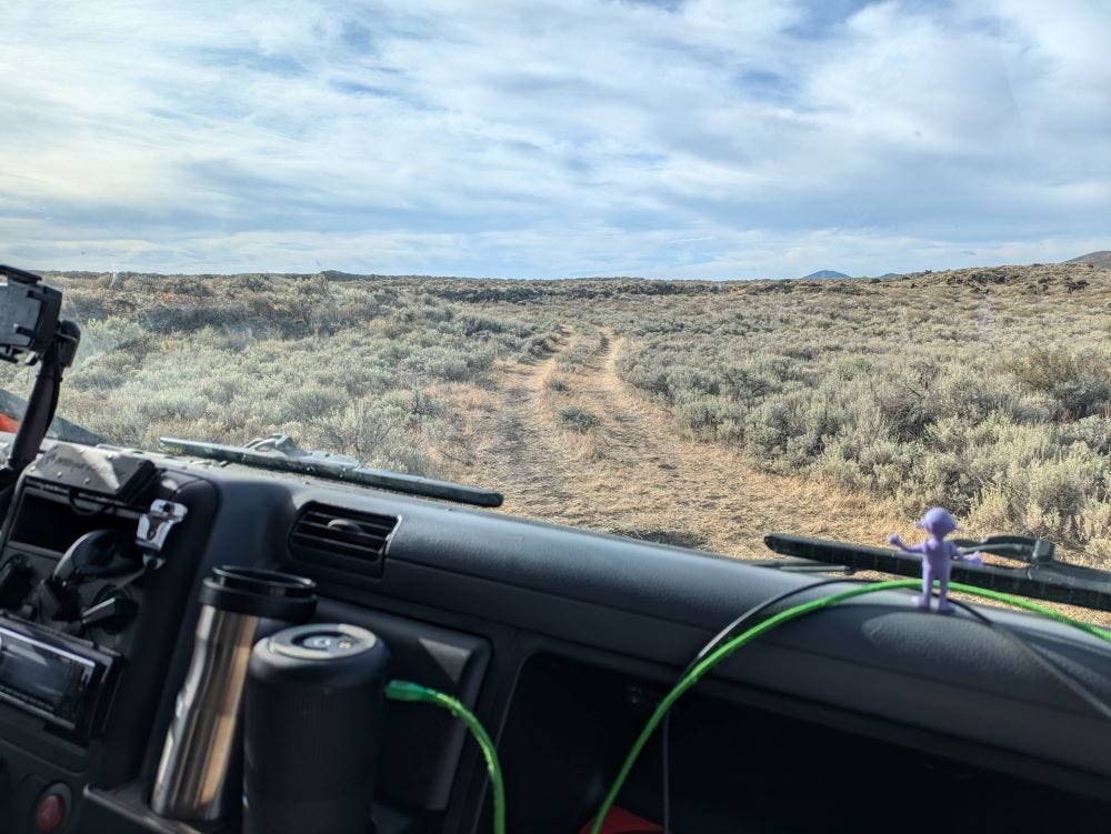
M451 456L439 450L467 435L450 392L488 390L497 369L534 368L556 350L551 392L562 370L598 370L613 333L619 375L668 409L681 435L911 515L941 503L978 531L1050 535L1111 557L1108 271L728 283L49 280L88 333L61 413L117 442L149 446L177 433L239 443L288 431L302 445L436 471ZM0 376L30 386L26 371ZM568 431L584 424L567 421Z

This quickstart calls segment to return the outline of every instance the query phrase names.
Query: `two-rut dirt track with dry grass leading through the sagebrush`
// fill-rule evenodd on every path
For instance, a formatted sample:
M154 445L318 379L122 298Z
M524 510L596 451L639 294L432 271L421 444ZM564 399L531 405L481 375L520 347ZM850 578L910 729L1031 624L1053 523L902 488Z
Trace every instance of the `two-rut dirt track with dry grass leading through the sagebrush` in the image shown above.
M476 474L508 512L745 557L770 555L770 531L870 543L909 532L859 496L679 436L667 409L618 375L625 344L612 333L569 332L554 346L504 365L476 418ZM575 408L599 424L565 428L560 410Z

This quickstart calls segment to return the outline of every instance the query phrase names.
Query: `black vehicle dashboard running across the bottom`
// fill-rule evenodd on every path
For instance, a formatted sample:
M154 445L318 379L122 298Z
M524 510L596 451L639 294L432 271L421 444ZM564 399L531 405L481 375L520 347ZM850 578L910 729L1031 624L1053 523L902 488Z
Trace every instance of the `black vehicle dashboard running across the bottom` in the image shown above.
M90 694L67 701L69 683L31 692L0 649L2 832L238 834L234 813L188 823L149 806L198 595L218 565L314 580L316 620L369 629L390 649L392 676L473 710L502 760L508 830L529 834L582 831L699 647L745 609L812 581L237 464L69 449L147 474L106 498L41 465L47 455L10 503L0 646L78 655L83 665L64 675ZM148 549L146 570L117 570L109 555L76 595L52 595L44 580L76 541L106 531L129 543L154 501L184 513ZM352 547L318 534L352 521L379 540ZM1111 700L1105 643L1022 614L992 616ZM389 703L382 727L378 834L490 830L483 760L459 722ZM679 834L1111 830L1108 719L982 624L919 612L900 593L802 617L743 647L677 704L670 740ZM620 795L645 821L661 818L663 753L653 738ZM58 798L44 808L49 797Z

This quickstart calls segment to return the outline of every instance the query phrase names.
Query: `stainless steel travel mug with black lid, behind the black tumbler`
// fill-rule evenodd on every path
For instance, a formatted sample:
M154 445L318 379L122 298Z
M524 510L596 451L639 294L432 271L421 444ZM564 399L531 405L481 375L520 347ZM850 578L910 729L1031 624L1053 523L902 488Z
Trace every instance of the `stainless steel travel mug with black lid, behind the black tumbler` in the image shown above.
M240 702L259 622L308 621L314 589L311 580L256 567L216 567L204 580L193 656L151 793L154 813L218 820L238 800L229 772L240 754Z

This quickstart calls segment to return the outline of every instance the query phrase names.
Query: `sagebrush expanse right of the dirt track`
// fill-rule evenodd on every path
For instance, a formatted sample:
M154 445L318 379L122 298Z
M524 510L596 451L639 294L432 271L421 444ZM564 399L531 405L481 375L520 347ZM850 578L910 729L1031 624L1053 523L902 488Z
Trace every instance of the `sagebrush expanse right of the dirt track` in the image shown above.
M671 299L605 323L630 345L622 379L682 434L908 513L940 503L978 529L1111 553L1111 340L1092 303L1111 274L1077 298L1075 271L960 270L847 283L848 295L750 282L712 305ZM1053 303L1031 307L1031 280Z

